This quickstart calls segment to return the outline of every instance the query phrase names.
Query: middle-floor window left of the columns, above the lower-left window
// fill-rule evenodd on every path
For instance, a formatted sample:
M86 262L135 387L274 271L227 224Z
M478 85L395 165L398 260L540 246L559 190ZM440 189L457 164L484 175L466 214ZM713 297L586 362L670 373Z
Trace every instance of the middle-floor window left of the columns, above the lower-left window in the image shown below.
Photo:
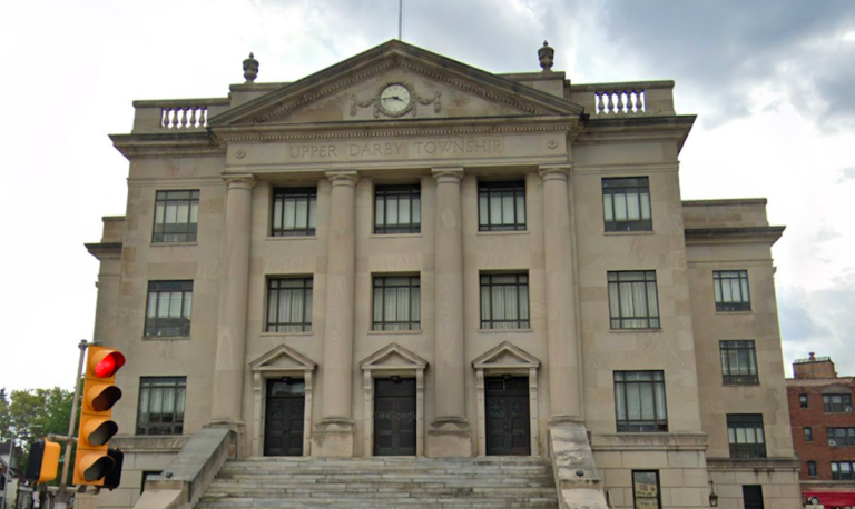
M149 281L146 336L190 336L193 281Z

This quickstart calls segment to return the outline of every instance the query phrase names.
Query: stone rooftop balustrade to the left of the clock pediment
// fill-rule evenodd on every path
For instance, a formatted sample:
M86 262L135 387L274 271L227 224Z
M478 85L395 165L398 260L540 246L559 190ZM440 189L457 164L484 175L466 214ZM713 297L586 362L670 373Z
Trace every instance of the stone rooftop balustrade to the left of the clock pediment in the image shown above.
M134 101L134 133L193 132L207 128L208 119L229 107L228 99L167 99Z

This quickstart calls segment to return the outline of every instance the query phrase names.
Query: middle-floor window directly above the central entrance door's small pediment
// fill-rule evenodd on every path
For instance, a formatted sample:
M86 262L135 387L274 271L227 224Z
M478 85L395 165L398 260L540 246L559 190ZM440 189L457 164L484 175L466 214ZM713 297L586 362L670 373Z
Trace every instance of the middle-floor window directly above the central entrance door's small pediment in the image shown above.
M421 329L419 276L374 278L374 330Z

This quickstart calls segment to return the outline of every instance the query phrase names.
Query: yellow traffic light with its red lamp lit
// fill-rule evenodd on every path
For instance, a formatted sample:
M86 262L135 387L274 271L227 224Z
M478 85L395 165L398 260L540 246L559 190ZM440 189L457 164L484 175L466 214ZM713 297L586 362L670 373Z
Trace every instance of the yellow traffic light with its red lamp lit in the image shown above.
M125 366L125 356L118 350L104 347L89 347L86 359L83 380L83 402L80 407L80 428L77 433L77 456L75 457L73 483L78 486L104 486L105 477L111 473L118 486L121 471L121 458L110 453L107 442L119 431L110 420L112 406L121 398L121 390L114 386L116 372ZM119 452L120 456L121 452ZM117 476L118 475L118 476Z

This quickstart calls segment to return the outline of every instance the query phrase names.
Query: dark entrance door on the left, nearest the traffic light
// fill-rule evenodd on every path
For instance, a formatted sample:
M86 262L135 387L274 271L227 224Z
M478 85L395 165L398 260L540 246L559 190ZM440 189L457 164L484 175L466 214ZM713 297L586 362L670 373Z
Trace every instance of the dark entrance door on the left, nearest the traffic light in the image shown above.
M264 456L303 456L306 385L303 380L267 380Z

